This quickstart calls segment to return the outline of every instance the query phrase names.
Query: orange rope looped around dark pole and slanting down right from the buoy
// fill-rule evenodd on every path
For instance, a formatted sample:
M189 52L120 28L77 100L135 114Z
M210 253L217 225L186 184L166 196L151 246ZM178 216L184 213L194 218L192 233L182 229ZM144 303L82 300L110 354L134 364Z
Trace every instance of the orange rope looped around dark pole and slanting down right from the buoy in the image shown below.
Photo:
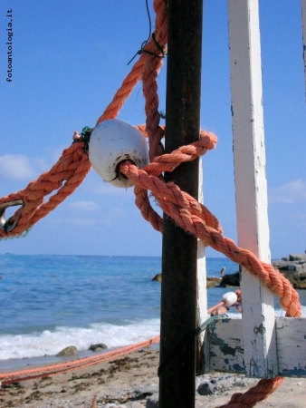
M215 135L204 132L200 141L182 146L169 155L162 155L142 170L130 161L124 161L120 164L120 172L135 183L136 204L154 228L162 231L162 219L149 203L148 189L160 208L179 227L200 238L206 246L223 253L269 287L279 297L286 316L301 316L299 295L286 277L272 265L263 263L251 251L239 248L232 239L225 238L218 220L204 205L174 183L165 183L158 177L162 171L174 170L183 161L194 160L200 153L213 149L215 142Z

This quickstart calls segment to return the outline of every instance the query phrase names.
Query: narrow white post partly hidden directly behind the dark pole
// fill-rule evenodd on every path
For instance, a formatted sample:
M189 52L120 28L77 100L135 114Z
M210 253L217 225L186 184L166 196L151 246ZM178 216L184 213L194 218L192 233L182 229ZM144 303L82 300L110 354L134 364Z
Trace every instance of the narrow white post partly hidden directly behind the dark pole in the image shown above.
M203 203L203 168L202 159L199 160L198 171L198 202ZM196 325L201 325L207 318L207 291L206 291L206 248L201 239L197 239L197 297L196 297ZM200 362L203 363L203 345L204 345L205 331L203 331L197 338L197 368ZM203 374L205 367L201 367Z

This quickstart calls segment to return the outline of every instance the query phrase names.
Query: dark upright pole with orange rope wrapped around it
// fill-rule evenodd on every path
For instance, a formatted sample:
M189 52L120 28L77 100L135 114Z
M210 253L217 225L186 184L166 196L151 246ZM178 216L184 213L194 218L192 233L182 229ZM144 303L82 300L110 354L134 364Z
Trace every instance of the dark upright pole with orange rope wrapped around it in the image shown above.
M168 1L166 152L199 139L203 0ZM198 198L198 160L168 173ZM164 215L160 363L196 328L196 237ZM195 407L196 337L159 374L159 408Z

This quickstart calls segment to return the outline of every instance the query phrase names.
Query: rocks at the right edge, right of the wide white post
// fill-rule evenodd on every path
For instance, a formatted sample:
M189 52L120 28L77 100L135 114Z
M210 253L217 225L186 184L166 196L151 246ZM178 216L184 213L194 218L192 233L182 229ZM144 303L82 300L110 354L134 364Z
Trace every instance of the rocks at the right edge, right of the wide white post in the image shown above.
M296 289L306 289L306 254L293 254L272 262Z

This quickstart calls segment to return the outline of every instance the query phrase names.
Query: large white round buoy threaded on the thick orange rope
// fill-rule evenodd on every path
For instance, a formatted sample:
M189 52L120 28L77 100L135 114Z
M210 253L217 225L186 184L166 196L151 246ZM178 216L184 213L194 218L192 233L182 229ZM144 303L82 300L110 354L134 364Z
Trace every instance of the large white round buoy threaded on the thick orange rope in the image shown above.
M131 160L139 169L148 164L148 143L132 125L119 119L102 121L91 132L91 165L112 185L128 188L133 183L118 171L121 161Z

